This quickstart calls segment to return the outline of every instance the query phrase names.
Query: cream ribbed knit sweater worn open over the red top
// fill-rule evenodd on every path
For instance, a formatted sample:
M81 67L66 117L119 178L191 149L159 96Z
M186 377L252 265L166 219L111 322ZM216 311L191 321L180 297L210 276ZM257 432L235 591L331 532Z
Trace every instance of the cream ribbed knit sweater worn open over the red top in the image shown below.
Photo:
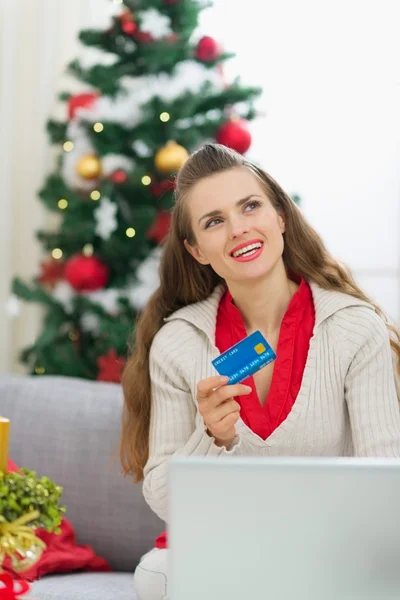
M211 361L223 290L170 317L150 352L150 453L143 493L167 520L168 461L183 456L400 457L400 411L388 330L365 302L310 283L315 327L303 380L286 420L266 439L241 419L229 449L218 447L197 410L196 386Z

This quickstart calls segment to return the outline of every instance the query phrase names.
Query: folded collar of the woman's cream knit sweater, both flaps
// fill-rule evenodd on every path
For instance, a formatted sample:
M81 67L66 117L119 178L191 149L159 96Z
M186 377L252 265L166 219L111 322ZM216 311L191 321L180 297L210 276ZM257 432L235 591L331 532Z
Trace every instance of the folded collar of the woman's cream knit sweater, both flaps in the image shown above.
M348 308L350 306L368 306L369 308L373 309L371 304L364 302L363 300L359 300L354 296L350 296L349 294L325 290L312 281L308 283L311 288L311 294L315 308L314 331L326 319L343 308ZM195 302L180 308L172 315L164 319L164 321L187 321L200 329L200 331L203 331L203 333L205 333L214 344L218 306L224 292L224 286L218 285L208 298L202 300L201 302Z

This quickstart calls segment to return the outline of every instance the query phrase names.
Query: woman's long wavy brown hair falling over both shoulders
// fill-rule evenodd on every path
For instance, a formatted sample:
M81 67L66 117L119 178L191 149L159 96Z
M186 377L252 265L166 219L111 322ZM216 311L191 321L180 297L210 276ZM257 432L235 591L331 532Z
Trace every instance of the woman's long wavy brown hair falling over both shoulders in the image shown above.
M183 306L205 300L217 284L224 283L209 265L199 264L184 247L185 239L192 245L195 242L185 197L200 179L238 167L249 169L258 178L275 209L284 216L283 261L287 271L325 290L344 292L369 302L386 321L379 307L357 286L349 271L329 254L300 209L270 175L225 146L204 145L189 157L176 178L171 228L160 264L160 286L137 321L122 377L124 410L120 459L123 473L133 475L135 481L143 479L149 454L149 353L153 339L165 317ZM400 335L388 327L395 334L391 344L399 356L400 372Z

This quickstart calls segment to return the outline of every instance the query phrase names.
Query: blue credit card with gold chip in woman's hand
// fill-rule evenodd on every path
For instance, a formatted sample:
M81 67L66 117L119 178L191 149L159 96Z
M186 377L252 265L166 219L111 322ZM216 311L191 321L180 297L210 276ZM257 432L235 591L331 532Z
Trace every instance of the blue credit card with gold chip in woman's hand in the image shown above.
M228 384L240 383L276 359L276 354L260 331L248 335L212 361Z

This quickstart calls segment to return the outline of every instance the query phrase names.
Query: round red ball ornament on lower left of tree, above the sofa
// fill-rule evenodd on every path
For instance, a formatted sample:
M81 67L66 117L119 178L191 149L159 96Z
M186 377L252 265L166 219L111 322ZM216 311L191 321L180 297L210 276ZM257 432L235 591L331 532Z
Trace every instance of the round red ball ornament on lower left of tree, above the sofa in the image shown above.
M94 292L106 285L109 271L96 256L75 254L65 265L64 277L77 292Z

